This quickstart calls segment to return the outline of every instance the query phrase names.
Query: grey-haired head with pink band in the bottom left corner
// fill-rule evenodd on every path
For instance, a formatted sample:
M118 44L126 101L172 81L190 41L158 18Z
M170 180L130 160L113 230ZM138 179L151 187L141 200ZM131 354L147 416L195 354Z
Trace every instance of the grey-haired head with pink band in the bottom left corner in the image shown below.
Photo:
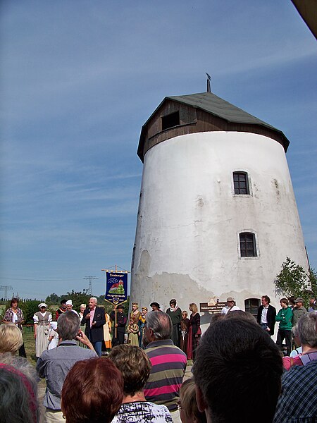
M37 423L38 378L35 368L23 357L10 353L0 357L0 422Z

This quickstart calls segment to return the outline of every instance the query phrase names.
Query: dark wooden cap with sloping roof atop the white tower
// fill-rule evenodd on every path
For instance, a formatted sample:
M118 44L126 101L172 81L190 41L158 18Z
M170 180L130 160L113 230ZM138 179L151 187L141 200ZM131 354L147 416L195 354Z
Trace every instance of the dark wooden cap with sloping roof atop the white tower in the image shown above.
M280 142L285 152L290 144L282 131L225 102L212 92L165 97L142 126L137 155L178 135L213 131L247 132Z

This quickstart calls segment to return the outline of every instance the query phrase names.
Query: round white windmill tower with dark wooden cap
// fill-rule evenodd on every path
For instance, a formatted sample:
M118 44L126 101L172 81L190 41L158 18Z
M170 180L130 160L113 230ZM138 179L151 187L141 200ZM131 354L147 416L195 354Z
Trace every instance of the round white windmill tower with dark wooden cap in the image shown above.
M132 300L166 309L177 298L188 309L230 296L250 311L269 295L278 307L282 262L308 269L288 145L280 130L211 92L163 99L137 149Z

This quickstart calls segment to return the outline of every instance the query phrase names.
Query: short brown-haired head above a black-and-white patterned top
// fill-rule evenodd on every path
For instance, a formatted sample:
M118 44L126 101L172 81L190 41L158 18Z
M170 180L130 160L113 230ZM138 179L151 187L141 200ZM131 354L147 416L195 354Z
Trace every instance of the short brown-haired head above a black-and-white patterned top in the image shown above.
M151 362L144 350L134 345L118 345L108 358L116 364L123 375L125 396L142 391L151 372Z

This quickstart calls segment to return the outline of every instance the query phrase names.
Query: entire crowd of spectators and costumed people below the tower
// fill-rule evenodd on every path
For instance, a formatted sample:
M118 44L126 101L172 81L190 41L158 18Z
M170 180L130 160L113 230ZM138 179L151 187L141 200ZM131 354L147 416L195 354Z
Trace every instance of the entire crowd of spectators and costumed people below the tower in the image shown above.
M36 372L15 355L23 345L23 315L0 325L0 421L39 422L40 377L45 422L316 422L316 301L307 312L302 298L282 298L278 313L270 302L263 295L255 318L228 298L203 336L197 306L189 305L188 318L175 299L166 312L157 302L150 312L133 303L129 318L118 306L108 321L96 298L78 313L68 302L57 310L57 327L41 303L36 338L43 326L49 345L58 334L58 348L46 346ZM107 324L112 348L100 357ZM184 381L188 357L192 377Z

